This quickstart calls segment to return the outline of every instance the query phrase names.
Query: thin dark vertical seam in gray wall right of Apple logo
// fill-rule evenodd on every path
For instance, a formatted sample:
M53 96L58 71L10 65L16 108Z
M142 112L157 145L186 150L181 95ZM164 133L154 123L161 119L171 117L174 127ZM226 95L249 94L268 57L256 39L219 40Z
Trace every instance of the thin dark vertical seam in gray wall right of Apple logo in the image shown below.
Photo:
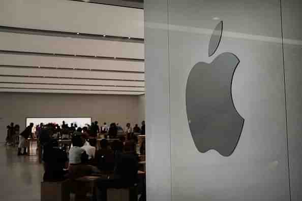
M284 42L283 42L283 19L282 19L282 0L280 0L280 14L281 14L281 39L282 39L282 59L283 59L283 82L284 82L284 97L285 97L285 127L286 127L286 144L287 144L287 168L289 181L289 200L291 200L291 181L289 170L289 150L288 150L288 127L287 127L287 102L286 102L286 83L285 83L285 61L284 61Z

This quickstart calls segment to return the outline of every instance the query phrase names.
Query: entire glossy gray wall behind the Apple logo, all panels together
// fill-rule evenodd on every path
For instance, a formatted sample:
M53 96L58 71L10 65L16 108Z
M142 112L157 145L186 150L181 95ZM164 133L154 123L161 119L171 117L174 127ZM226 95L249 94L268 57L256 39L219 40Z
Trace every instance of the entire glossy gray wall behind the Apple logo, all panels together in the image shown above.
M299 0L145 1L148 200L302 200L301 9ZM220 45L209 56L210 37L221 20ZM227 157L197 150L186 107L193 66L224 52L240 61L229 91L245 119ZM204 102L202 95L220 95L215 87L205 90L224 80L225 71L218 67L216 72L196 84L193 103ZM194 118L225 126L221 109L209 110L203 115L196 107ZM156 140L158 135L165 143ZM227 142L231 135L212 141Z

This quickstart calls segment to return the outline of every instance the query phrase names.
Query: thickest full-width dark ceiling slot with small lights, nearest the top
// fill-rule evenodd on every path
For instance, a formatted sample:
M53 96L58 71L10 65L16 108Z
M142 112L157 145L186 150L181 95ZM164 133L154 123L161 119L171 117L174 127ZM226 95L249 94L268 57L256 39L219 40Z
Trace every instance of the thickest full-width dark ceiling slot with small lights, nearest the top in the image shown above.
M57 30L45 30L45 29L33 29L33 28L21 28L13 26L1 26L0 32L10 32L10 33L21 33L26 35L35 35L35 36L49 36L49 37L62 37L73 39L90 39L90 40L101 40L101 41L119 41L125 43L144 43L144 39L140 38L128 38L112 35L98 35L94 33L79 33L77 32L68 32L68 31L57 31ZM104 33L105 34L105 33Z

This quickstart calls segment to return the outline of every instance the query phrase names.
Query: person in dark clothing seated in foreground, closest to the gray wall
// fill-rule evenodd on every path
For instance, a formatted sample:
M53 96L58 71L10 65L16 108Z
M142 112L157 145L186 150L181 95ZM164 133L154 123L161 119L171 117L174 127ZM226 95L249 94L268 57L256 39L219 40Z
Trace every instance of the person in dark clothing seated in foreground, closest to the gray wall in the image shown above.
M126 142L122 156L116 161L113 178L97 180L98 200L107 200L107 188L133 187L138 182L138 155L136 145Z

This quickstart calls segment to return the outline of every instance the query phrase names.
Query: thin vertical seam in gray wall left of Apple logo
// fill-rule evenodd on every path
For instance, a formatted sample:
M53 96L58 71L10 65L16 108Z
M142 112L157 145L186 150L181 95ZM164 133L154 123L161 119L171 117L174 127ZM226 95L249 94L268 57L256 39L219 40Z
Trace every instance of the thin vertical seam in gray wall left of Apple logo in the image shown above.
M170 137L170 200L172 201L172 141L171 141L171 69L170 69L170 30L169 30L169 0L167 0L167 35L168 35L168 81L169 81L169 137Z

